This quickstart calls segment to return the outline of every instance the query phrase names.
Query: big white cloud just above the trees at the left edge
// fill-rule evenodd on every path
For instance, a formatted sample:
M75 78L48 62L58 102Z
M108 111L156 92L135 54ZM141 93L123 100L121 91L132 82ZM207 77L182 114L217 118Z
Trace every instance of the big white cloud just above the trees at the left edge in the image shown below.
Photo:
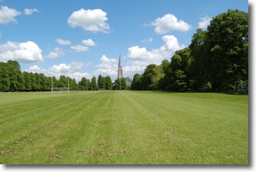
M22 63L44 62L41 54L42 50L32 41L10 42L0 45L0 60L17 60Z

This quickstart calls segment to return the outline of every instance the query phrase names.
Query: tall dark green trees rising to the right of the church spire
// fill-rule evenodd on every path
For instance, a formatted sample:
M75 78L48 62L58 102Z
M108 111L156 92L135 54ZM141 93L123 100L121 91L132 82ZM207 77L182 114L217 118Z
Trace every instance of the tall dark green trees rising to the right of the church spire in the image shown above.
M132 90L216 91L248 81L248 13L229 9L197 29L189 47L176 51L170 62L150 64L135 74Z

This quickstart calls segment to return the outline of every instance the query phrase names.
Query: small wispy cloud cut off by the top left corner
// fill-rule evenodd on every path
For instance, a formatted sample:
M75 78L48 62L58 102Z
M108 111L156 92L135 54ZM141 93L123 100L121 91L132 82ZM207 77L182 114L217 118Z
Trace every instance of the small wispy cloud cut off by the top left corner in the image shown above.
M8 8L7 6L1 6L0 9L0 24L8 24L11 21L13 23L18 23L15 20L15 16L18 16L22 13L18 12L16 9Z

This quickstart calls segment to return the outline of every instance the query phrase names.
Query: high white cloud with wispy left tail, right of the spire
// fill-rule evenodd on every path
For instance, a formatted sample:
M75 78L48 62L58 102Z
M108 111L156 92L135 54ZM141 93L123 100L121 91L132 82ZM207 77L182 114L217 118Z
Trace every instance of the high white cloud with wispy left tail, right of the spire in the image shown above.
M188 31L192 27L183 20L178 20L173 14L166 14L162 18L151 21L151 24L144 26L156 26L156 34L166 34L169 31Z

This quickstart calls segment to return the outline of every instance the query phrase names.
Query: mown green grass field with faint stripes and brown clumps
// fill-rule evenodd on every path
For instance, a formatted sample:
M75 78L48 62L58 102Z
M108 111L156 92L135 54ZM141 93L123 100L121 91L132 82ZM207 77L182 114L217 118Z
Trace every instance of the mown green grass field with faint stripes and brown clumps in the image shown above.
M1 164L248 164L248 95L0 93Z

